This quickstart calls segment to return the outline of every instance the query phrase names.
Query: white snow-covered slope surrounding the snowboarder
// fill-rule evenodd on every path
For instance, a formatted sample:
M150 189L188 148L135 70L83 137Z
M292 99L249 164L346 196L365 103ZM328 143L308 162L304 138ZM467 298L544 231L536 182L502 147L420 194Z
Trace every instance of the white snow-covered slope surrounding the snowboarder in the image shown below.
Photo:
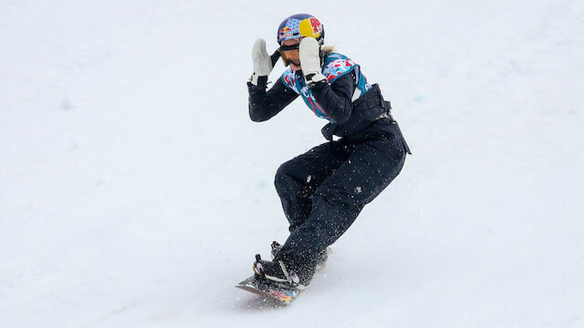
M326 121L245 81L302 12L413 156L274 308L234 285ZM580 0L0 1L0 327L584 327L583 129Z

